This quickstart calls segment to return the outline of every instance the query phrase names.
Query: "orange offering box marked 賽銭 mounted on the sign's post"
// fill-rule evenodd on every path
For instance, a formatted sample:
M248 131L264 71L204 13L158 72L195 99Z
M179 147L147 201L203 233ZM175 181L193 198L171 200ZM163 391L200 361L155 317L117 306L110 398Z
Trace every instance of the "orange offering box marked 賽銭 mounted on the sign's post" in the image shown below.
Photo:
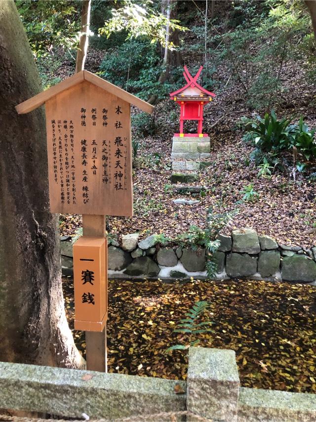
M73 251L75 330L100 332L108 311L106 239L82 236Z

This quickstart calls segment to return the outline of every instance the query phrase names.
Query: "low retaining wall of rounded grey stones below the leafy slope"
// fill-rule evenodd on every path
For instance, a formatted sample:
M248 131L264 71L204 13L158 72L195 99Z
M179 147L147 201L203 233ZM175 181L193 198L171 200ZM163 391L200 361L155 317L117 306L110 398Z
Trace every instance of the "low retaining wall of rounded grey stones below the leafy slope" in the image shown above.
M218 280L252 278L316 284L316 247L277 244L269 236L258 236L249 228L219 235L220 247L214 254ZM112 241L108 249L110 278L160 278L184 280L207 278L205 249L193 251L181 246L161 246L157 235L139 241L139 234ZM62 269L73 271L72 243L61 242Z

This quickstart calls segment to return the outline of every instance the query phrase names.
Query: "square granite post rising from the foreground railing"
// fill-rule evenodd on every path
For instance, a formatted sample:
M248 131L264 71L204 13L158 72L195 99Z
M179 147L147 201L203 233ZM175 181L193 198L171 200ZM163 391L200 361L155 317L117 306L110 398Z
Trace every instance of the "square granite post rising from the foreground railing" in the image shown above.
M187 409L212 421L237 421L239 376L234 350L191 347Z

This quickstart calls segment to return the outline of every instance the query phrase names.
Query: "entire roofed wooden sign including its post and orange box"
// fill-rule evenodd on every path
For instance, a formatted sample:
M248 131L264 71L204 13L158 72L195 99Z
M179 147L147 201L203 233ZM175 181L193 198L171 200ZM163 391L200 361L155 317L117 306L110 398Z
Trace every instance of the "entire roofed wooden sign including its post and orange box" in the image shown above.
M82 215L73 246L75 330L85 331L90 371L107 372L106 215L133 215L130 105L152 105L82 70L16 106L45 104L51 212Z

